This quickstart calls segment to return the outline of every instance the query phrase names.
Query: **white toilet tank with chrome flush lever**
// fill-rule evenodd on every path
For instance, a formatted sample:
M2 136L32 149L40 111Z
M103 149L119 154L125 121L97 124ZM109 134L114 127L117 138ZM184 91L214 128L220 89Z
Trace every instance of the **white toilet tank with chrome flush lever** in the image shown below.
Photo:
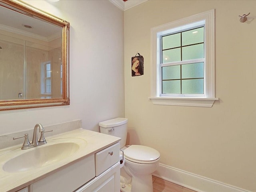
M120 148L122 148L126 144L127 122L127 118L115 118L100 122L100 132L122 138L120 141Z

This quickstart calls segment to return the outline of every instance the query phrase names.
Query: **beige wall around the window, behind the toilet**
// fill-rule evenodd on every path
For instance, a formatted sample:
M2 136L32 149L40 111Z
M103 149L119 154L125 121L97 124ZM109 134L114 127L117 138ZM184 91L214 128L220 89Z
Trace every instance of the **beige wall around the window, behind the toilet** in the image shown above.
M161 153L162 164L256 191L256 1L150 0L124 12L128 143ZM216 97L212 108L153 105L150 28L215 9ZM245 23L238 15L251 14ZM131 76L131 57L144 75Z

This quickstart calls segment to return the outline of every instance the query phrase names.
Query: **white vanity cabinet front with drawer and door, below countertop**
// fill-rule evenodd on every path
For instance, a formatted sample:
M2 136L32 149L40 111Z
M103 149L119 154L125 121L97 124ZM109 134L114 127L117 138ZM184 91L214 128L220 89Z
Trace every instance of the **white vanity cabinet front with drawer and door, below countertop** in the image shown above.
M119 142L29 186L29 192L46 191L120 192Z

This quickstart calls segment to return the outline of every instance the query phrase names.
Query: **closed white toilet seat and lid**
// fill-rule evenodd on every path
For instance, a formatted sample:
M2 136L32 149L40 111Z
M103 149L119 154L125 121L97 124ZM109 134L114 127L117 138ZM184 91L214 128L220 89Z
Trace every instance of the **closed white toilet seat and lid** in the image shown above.
M151 164L157 162L159 157L160 153L148 146L131 145L124 150L124 158L136 163Z

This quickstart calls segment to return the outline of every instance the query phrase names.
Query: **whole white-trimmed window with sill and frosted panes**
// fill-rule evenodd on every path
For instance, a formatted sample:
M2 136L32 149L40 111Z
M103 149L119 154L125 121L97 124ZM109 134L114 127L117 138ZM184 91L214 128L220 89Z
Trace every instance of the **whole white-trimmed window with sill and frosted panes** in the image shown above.
M211 107L214 10L152 28L153 104Z

